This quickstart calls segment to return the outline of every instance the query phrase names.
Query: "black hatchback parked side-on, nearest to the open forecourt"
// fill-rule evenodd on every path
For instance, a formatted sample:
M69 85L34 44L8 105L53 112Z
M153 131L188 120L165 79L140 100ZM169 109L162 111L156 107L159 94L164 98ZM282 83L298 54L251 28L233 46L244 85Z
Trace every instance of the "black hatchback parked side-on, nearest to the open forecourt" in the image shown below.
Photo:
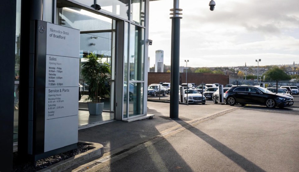
M286 107L291 98L283 94L274 94L266 88L259 86L235 86L231 87L224 97L226 104L231 106L239 103L265 105L269 108Z

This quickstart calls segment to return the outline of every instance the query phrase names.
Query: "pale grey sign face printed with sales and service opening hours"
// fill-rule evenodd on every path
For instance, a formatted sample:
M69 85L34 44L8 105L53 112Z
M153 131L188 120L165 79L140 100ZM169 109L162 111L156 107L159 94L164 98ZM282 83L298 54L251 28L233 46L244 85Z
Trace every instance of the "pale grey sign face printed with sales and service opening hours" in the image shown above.
M47 23L44 151L78 142L80 31Z

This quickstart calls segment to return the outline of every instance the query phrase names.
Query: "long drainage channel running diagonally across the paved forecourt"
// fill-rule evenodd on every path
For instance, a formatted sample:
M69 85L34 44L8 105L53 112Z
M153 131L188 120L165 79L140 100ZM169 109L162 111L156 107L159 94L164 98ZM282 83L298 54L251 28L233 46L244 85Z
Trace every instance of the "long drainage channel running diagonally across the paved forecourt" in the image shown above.
M239 109L239 108L236 108L236 109ZM234 109L234 110L236 110L236 109ZM101 163L106 162L107 160L110 160L111 158L113 158L113 157L115 157L115 156L117 156L117 155L121 155L121 154L123 154L123 153L125 153L125 152L127 152L127 151L129 151L129 150L131 150L131 149L134 149L135 147L140 146L140 145L142 145L142 144L144 144L144 143L146 143L146 142L149 142L149 141L152 141L152 140L154 140L154 139L156 139L156 138L165 136L165 135L167 135L167 134L169 134L169 133L171 133L171 132L173 132L173 131L177 131L177 130L179 130L179 129L181 129L181 128L184 128L184 127L187 127L187 126L189 126L189 125L192 125L192 124L194 124L194 123L196 123L196 122L199 122L199 121L202 121L202 120L205 120L205 119L214 117L214 116L219 115L219 114L225 114L225 113L227 113L227 112L234 111L234 110L227 110L227 111L225 111L225 112L217 113L217 114L215 114L215 115L212 115L212 116L209 116L209 117L205 117L205 118L202 118L202 119L198 119L198 120L192 121L192 122L190 122L190 123L184 124L184 125L182 125L182 126L180 126L180 127L177 127L177 128L175 128L175 129L173 129L173 130L167 131L167 132L162 133L162 134L160 134L160 135L158 135L158 136L155 136L155 137L153 137L153 138L150 138L150 139L147 139L147 140L145 140L145 141L142 141L142 142L140 142L140 143L138 143L138 144L136 144L136 145L133 145L133 146L127 148L127 149L121 150L120 152L117 152L117 153L115 153L115 154L109 155L109 156L107 156L107 157L105 157L105 158L102 158L102 159L100 159L100 160L97 160L97 161L95 161L95 162L93 162L93 163L91 163L91 164L89 164L89 165L87 165L87 166L85 166L85 167L83 167L83 168L77 170L76 172L84 172L84 171L87 171L87 170L89 170L89 169L91 169L91 168L93 168L93 167L95 167L95 166L97 166L97 165L99 165L99 164L101 164Z

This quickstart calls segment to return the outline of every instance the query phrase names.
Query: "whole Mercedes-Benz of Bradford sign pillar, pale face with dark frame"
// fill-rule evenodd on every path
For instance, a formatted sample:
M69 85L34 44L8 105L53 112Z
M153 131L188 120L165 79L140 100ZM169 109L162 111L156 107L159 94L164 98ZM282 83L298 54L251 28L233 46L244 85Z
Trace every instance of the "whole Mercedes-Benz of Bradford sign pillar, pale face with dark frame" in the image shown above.
M80 31L39 20L31 31L28 154L38 160L77 148Z

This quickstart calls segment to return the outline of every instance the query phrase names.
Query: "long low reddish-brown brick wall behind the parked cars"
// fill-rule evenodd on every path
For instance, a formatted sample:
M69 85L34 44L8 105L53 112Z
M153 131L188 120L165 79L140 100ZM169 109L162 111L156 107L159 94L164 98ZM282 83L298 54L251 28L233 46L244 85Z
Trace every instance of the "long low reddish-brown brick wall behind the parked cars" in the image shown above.
M158 84L159 82L170 82L170 73L149 72L148 84ZM186 73L180 73L180 82L186 83ZM229 76L222 74L206 74L206 73L187 73L187 82L201 84L229 84Z

